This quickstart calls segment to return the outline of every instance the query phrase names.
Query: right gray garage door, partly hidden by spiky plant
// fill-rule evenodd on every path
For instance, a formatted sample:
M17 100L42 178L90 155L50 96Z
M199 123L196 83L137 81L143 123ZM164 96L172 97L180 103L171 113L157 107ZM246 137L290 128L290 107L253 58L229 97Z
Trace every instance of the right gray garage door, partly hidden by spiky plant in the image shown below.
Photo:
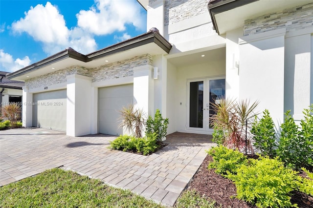
M99 88L99 133L121 135L120 113L123 106L134 101L133 84Z

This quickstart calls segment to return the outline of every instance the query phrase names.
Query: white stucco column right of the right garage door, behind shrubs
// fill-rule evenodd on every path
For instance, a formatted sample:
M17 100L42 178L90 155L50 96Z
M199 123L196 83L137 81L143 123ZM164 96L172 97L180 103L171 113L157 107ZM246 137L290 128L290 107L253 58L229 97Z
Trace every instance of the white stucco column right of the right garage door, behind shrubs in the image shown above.
M154 115L154 79L151 65L134 67L134 105L148 115Z

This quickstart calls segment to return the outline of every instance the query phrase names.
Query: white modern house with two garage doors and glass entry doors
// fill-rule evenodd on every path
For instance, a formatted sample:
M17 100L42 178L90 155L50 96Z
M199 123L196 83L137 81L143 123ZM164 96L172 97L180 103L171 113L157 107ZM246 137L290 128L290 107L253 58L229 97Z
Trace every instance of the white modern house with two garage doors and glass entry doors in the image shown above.
M25 81L23 126L118 135L118 110L134 102L160 109L168 133L211 134L210 102L224 95L259 100L276 124L313 103L312 0L138 2L147 33L87 55L68 48L7 76Z

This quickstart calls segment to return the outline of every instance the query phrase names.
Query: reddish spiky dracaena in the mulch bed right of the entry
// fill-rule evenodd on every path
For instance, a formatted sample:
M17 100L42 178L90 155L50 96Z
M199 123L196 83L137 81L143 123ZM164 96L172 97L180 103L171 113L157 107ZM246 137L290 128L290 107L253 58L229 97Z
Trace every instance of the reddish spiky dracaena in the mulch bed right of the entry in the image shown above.
M246 145L246 127L251 128L255 108L258 102L250 104L249 100L235 101L232 99L222 98L219 104L211 103L215 114L211 115L211 122L217 129L223 129L224 142L223 145L228 148L243 150L248 148L249 152L253 152L250 143L250 136L247 135Z

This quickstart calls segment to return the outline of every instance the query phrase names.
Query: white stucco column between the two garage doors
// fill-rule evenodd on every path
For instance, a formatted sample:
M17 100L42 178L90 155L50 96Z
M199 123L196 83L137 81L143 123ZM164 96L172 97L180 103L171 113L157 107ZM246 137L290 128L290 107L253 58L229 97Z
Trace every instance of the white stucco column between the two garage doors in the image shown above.
M67 76L67 135L90 134L91 78L72 74Z

